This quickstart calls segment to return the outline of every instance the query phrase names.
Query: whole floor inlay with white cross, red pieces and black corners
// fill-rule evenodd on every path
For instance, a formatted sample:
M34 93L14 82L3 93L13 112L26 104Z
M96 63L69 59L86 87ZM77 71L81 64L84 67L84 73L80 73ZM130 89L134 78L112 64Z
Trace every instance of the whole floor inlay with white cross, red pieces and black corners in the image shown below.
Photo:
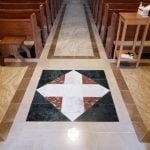
M103 70L44 70L27 121L118 121Z

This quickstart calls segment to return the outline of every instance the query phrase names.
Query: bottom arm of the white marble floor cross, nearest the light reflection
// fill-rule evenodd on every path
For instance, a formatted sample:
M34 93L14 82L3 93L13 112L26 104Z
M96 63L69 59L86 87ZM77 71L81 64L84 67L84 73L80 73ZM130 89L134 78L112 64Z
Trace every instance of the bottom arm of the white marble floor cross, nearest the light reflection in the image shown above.
M84 112L83 97L63 97L61 112L74 121Z

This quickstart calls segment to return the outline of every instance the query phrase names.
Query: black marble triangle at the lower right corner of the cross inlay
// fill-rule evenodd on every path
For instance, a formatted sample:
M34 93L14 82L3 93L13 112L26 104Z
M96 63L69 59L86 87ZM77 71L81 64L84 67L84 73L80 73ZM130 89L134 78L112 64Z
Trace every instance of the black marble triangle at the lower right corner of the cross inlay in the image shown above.
M94 106L76 119L76 121L91 122L117 122L118 116L109 92L102 97Z

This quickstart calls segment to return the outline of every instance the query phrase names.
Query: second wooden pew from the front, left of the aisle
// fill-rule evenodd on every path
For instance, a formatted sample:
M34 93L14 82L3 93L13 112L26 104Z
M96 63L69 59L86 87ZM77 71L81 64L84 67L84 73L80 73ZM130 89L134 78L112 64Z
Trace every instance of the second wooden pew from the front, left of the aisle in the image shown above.
M1 6L1 5L0 5ZM48 29L46 23L46 17L44 16L43 5L40 5L40 9L1 9L0 8L0 18L1 19L28 19L31 14L35 13L37 18L38 26L41 29L43 45L45 44L48 37Z

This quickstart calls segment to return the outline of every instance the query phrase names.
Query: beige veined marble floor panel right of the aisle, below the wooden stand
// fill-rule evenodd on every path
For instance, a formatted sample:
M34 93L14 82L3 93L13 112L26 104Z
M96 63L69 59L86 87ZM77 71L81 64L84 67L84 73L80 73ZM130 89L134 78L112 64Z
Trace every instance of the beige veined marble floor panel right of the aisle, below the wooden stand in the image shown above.
M138 69L122 69L124 79L128 85L135 105L150 130L150 67L139 67Z

